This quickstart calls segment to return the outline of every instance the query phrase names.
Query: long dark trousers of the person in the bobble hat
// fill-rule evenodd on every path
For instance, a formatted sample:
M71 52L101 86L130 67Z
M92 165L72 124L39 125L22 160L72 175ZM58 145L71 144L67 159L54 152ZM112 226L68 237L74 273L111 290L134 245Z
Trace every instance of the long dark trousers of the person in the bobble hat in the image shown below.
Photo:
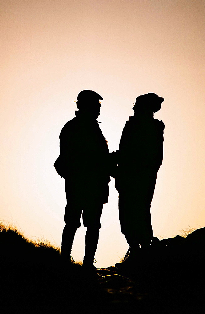
M132 182L132 184L130 184ZM154 195L156 174L141 174L119 189L121 232L129 246L151 242L153 230L150 205Z

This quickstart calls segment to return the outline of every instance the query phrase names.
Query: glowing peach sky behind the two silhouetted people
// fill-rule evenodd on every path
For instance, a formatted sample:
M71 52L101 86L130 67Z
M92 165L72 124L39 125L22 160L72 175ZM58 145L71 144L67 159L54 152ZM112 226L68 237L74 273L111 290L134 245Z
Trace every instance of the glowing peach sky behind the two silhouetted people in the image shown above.
M58 136L74 117L79 91L93 89L104 98L98 121L110 151L138 95L165 98L154 115L165 123L154 236L204 227L205 2L2 0L0 11L0 219L60 246L66 198L53 167ZM118 262L128 248L117 196L112 180L97 267ZM76 234L75 260L83 258L85 231Z

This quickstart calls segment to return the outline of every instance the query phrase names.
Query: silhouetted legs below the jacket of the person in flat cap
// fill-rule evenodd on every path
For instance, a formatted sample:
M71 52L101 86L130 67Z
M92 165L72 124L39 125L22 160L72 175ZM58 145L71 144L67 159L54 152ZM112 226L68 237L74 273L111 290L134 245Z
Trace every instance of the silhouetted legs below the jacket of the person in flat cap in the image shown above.
M80 190L65 181L65 190L67 205L64 220L66 225L62 233L61 254L70 258L75 232L81 226L82 215L83 224L87 227L84 263L93 263L101 228L100 217L103 203L95 194L91 194L89 187Z

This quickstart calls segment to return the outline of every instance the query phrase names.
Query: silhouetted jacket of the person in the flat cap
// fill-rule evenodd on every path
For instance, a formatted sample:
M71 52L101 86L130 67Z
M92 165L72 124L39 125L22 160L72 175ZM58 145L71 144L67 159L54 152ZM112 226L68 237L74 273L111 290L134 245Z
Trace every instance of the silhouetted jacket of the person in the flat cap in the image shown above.
M109 149L98 122L76 111L76 117L64 125L59 138L58 174L77 184L79 190L89 186L96 187L98 194L109 194Z

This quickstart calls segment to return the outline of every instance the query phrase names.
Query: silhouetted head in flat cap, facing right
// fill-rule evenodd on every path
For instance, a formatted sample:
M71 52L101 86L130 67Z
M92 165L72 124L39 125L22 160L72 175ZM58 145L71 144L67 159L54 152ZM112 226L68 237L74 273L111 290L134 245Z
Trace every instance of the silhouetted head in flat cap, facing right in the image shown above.
M100 100L103 100L102 96L94 92L94 90L82 90L77 97L77 108L80 111L84 111L96 116L100 115Z

